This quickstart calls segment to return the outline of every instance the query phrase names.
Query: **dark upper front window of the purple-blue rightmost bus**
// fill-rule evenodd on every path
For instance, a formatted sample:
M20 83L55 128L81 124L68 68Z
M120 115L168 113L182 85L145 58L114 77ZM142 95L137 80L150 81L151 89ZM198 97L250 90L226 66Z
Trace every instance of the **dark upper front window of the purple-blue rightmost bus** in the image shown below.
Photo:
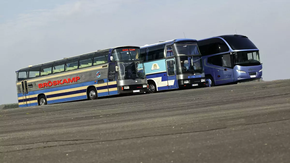
M256 45L247 37L228 36L224 40L230 45L232 50L258 49Z

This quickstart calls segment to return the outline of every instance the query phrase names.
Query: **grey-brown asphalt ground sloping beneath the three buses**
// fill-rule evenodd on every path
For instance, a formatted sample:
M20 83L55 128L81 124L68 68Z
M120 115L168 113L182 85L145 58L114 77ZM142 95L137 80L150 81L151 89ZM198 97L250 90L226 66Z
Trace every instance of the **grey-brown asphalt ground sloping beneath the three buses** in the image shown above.
M290 162L290 80L0 111L0 162Z

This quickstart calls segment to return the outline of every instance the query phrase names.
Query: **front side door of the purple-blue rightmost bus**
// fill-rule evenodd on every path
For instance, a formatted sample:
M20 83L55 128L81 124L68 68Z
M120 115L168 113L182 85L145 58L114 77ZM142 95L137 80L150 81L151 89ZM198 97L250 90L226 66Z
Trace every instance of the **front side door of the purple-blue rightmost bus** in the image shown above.
M222 72L224 80L222 84L231 83L234 81L234 73L232 67L231 54L222 55Z

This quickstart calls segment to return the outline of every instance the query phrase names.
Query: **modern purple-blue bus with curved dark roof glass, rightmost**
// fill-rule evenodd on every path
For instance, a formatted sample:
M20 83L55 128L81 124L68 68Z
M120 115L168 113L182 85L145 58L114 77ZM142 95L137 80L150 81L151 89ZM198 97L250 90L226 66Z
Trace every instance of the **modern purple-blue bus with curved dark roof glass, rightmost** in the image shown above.
M243 35L222 35L197 42L202 54L206 87L262 78L259 49Z

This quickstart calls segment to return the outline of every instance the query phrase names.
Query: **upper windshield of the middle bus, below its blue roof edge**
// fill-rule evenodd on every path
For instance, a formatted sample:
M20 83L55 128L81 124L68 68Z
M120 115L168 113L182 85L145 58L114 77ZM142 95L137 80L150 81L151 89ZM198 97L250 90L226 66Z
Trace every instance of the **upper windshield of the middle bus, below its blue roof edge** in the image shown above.
M200 55L196 42L175 43L174 48L177 55Z

